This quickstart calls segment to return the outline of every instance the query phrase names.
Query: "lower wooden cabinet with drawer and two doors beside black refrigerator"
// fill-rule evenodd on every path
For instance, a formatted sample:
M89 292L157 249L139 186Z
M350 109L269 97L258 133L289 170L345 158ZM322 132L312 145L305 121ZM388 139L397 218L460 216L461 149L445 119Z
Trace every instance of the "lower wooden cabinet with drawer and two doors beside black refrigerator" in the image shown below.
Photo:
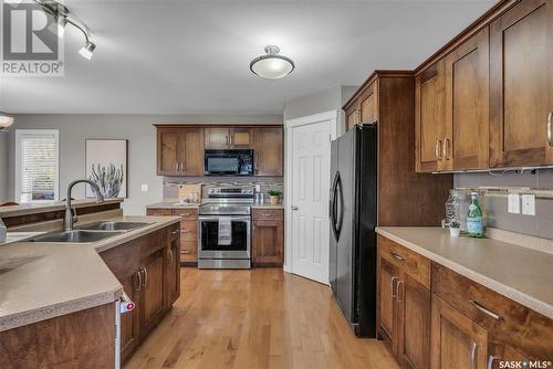
M430 261L378 236L378 336L404 368L430 367Z

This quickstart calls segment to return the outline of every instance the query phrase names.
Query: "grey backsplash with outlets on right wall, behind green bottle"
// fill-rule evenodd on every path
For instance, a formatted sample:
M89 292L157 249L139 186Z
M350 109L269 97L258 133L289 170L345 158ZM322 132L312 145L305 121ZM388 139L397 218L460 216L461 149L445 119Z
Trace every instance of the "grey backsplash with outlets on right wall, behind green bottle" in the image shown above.
M540 169L534 172L474 172L455 175L456 188L488 186L553 190L553 169ZM488 226L553 240L553 199L536 197L535 215L509 213L507 196L484 196L482 208L487 212Z

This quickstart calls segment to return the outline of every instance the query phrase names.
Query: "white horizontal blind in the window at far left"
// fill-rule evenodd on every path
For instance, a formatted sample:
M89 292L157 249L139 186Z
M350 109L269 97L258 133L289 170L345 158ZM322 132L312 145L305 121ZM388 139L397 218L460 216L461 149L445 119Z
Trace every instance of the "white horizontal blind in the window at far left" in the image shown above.
M58 143L52 134L23 134L20 138L20 201L54 201Z

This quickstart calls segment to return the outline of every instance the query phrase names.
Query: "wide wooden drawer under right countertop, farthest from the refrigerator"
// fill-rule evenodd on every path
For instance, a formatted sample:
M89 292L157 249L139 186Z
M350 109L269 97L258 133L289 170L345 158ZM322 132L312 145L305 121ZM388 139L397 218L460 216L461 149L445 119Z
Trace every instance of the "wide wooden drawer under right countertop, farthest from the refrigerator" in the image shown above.
M492 342L533 359L552 359L552 319L437 263L432 263L432 293L487 328Z

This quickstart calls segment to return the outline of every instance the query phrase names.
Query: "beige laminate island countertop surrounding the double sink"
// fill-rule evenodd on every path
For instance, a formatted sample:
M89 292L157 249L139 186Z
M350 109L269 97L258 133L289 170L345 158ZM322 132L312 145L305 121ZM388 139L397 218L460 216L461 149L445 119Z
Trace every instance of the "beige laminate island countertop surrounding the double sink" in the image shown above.
M93 243L21 241L0 246L0 331L115 302L123 287L98 253L179 218L106 220L150 224Z

